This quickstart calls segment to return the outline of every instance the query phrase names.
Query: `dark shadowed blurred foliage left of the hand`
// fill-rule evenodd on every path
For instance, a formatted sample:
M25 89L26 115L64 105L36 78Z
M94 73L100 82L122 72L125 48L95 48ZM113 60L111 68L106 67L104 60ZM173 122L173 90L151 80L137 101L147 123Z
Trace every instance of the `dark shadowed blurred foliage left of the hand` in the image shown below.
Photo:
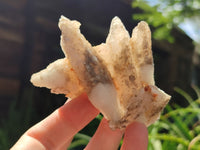
M17 100L13 101L8 116L0 121L0 150L11 148L38 118L32 107L32 90L26 89L24 93L20 104Z

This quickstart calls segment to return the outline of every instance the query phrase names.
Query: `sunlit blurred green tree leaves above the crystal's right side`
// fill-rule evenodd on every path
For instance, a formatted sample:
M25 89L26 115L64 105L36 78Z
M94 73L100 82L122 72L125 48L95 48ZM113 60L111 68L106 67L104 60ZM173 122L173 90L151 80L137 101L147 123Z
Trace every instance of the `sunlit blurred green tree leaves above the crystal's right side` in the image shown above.
M155 28L153 38L157 40L175 41L171 30L185 19L200 16L199 0L134 0L133 8L142 12L133 14L135 20L145 20Z

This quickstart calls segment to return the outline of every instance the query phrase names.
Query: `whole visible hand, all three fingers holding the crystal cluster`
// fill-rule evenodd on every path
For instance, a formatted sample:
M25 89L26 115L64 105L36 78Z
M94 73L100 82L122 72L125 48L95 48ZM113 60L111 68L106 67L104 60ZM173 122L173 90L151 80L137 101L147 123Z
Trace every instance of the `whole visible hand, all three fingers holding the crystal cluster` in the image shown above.
M70 100L47 118L26 131L11 150L66 150L73 136L92 121L99 111L86 94ZM133 122L124 131L111 130L105 118L84 150L147 150L148 131Z

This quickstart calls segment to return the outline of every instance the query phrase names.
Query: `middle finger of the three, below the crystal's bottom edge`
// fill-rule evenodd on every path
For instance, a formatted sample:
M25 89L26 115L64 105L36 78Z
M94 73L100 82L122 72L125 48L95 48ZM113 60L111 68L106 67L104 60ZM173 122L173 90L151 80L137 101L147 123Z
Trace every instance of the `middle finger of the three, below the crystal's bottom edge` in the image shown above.
M102 119L96 133L85 150L117 150L123 131L111 130L106 119Z

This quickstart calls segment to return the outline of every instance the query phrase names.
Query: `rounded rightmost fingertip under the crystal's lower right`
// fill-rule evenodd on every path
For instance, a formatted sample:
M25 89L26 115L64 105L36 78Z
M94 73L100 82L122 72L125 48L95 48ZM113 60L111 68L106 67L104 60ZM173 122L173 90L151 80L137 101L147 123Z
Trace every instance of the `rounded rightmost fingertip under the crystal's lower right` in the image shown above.
M125 131L122 150L147 150L148 130L139 122L130 124Z

